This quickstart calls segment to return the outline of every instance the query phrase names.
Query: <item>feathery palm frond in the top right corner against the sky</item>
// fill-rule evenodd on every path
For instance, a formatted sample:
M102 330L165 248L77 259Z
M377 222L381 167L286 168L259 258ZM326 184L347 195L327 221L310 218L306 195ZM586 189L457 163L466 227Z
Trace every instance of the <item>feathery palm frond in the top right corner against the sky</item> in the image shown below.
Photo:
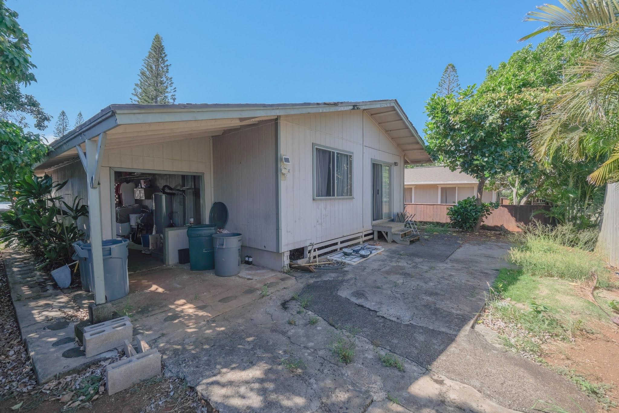
M544 4L529 12L525 21L546 24L521 38L529 40L541 33L561 32L582 38L616 37L619 35L617 0L559 0L561 6Z

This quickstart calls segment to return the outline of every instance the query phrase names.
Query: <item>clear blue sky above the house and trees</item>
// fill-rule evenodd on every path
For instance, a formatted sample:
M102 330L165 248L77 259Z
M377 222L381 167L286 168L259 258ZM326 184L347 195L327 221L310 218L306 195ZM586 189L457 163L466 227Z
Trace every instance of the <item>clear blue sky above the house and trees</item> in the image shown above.
M128 103L156 32L176 103L331 102L397 98L422 132L425 100L448 63L479 84L539 25L540 0L40 1L9 0L30 36L28 87L71 124ZM542 38L535 39L535 43Z

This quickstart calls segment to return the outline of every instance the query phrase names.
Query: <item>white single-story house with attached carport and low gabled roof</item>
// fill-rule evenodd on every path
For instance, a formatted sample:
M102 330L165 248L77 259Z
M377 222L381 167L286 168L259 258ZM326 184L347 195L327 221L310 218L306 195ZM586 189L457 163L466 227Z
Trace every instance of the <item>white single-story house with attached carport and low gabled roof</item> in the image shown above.
M281 270L290 251L373 237L373 224L404 211L404 165L428 162L396 100L128 104L54 141L35 173L68 180L61 194L88 200L93 251L102 239L131 237L128 222L137 233L131 215L152 210L161 191L174 197L153 211L165 212L165 224L150 227L163 263L178 263L188 225L209 223L212 204L223 202L242 254ZM103 303L103 261L93 260Z

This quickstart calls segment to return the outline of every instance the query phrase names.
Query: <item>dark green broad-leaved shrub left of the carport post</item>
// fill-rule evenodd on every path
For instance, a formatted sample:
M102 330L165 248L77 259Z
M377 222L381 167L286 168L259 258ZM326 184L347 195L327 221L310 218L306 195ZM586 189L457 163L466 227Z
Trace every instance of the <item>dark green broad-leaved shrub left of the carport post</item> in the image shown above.
M12 207L0 214L4 222L0 242L31 251L41 267L71 263L72 243L85 238L77 220L88 216L88 207L77 197L69 204L62 196L53 195L64 185L66 181L54 182L48 175L15 181Z

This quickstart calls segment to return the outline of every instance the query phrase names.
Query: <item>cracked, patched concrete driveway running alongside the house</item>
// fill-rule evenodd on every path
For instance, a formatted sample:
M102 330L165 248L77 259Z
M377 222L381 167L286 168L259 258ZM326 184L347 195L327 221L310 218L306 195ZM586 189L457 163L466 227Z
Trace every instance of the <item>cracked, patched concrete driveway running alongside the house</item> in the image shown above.
M165 372L219 412L595 411L576 386L471 328L508 245L430 235L158 337ZM308 298L306 308L291 300ZM353 347L346 364L332 347ZM404 371L385 367L393 354Z

